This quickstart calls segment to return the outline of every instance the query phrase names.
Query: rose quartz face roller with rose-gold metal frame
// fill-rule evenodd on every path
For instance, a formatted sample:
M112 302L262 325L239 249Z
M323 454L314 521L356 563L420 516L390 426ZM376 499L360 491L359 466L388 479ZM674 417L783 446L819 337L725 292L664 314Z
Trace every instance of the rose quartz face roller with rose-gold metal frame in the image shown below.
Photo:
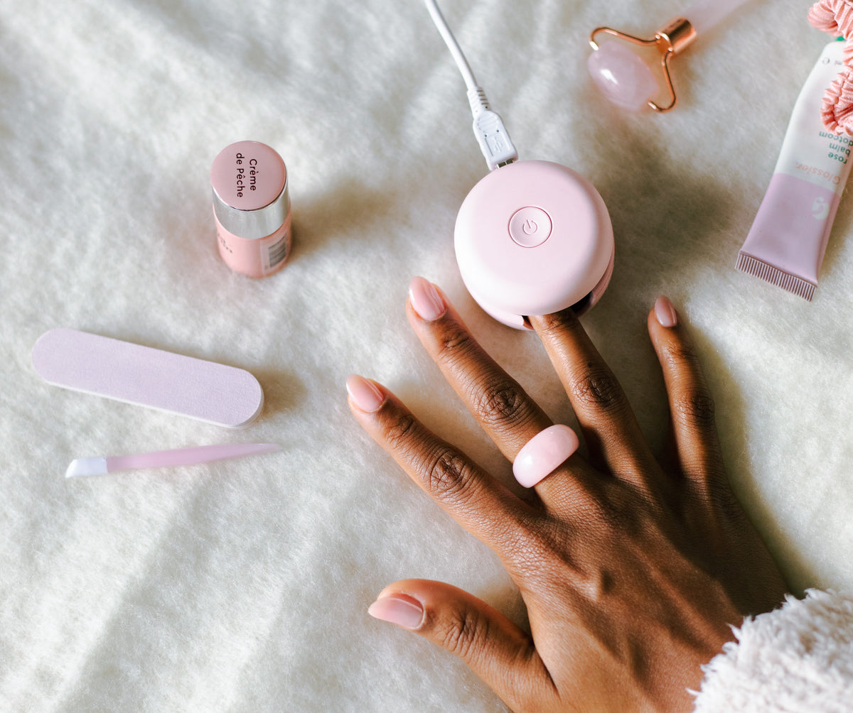
M651 106L656 112L668 112L676 106L676 90L670 77L672 57L686 49L698 35L711 30L746 2L747 0L701 0L694 3L683 15L666 23L655 33L653 39L634 37L612 27L596 27L589 36L589 43L595 50L589 56L589 73L607 99L618 106L632 112L638 112L645 106ZM599 45L595 38L601 34L618 37L624 40L624 43L608 42ZM625 43L659 50L665 89L669 95L668 103L659 104L654 101L655 95L659 93L659 81L646 62Z

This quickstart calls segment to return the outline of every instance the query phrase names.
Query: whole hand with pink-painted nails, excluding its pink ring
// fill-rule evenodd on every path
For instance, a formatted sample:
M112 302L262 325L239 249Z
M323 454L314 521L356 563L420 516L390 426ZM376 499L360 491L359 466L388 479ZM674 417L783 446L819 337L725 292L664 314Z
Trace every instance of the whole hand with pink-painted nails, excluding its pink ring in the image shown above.
M510 461L552 422L415 278L409 322ZM786 584L728 486L711 396L666 298L647 319L673 443L658 460L571 310L531 317L577 416L574 453L527 502L427 430L376 382L347 380L363 428L442 508L495 550L527 607L527 634L440 582L390 584L370 607L462 658L515 711L689 710L700 666L731 626L780 604ZM531 493L532 494L532 493Z

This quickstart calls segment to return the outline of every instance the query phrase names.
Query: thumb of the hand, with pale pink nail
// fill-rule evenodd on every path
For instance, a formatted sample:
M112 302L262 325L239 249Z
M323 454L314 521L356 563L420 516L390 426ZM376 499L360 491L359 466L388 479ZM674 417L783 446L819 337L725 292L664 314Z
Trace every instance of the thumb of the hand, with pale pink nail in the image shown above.
M513 710L528 710L533 701L545 710L556 698L531 637L462 589L403 580L386 587L368 612L456 654Z

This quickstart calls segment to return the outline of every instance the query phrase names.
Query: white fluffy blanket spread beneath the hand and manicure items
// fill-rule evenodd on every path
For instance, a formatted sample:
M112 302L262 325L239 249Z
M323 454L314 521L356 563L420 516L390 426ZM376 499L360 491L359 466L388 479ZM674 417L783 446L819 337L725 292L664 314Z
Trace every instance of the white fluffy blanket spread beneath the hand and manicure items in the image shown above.
M612 285L584 318L648 438L664 439L645 315L692 325L738 495L795 590L850 587L853 202L814 302L734 270L798 90L827 37L807 0L748 3L675 62L680 105L591 88L600 24L652 34L688 3L444 0L522 158L579 170L612 215ZM0 0L0 708L476 711L455 658L369 618L385 584L438 578L523 620L496 557L353 422L344 380L385 382L511 478L409 332L411 276L442 285L556 421L534 336L467 296L451 234L485 172L461 78L420 0ZM295 243L274 277L219 260L208 170L232 141L290 170ZM50 387L68 326L252 371L245 432ZM283 451L66 481L74 457L223 441Z

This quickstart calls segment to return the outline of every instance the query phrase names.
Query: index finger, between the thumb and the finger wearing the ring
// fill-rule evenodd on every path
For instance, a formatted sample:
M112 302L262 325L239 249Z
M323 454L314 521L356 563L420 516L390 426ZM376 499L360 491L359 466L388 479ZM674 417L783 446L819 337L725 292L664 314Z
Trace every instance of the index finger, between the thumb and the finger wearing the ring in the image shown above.
M353 415L424 491L502 557L510 572L532 510L376 382L346 380Z

